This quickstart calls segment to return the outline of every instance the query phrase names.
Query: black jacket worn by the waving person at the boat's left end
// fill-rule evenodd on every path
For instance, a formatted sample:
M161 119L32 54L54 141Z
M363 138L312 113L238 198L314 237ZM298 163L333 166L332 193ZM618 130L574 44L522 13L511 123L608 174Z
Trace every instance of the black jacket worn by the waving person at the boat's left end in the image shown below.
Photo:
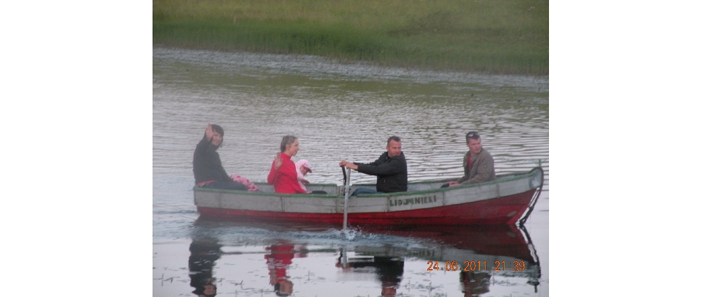
M195 175L195 184L212 180L232 181L222 167L222 161L216 149L216 146L207 141L206 136L202 137L202 140L195 147L195 153L192 156L192 173Z

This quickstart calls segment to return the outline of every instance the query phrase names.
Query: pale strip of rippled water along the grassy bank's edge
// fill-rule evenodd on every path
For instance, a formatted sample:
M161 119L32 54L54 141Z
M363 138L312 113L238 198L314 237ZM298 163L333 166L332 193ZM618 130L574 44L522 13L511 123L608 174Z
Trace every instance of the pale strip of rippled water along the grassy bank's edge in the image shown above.
M479 83L494 87L527 88L548 92L548 74L489 74L479 71L432 70L412 67L380 66L366 61L343 61L331 57L302 54L251 53L243 50L209 50L153 45L153 58L177 60L190 57L187 63L216 69L268 69L275 74L309 74L318 78L335 77L351 81L388 80L415 83ZM213 60L218 62L213 63ZM339 78L345 77L345 78Z

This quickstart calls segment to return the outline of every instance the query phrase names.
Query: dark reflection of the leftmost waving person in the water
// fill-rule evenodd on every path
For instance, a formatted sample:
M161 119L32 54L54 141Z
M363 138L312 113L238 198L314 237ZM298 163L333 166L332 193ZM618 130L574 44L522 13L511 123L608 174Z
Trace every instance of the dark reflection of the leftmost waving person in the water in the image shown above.
M216 279L212 277L212 268L222 254L220 247L222 247L221 244L211 239L193 240L190 244L188 259L190 286L195 288L192 293L198 297L217 295Z

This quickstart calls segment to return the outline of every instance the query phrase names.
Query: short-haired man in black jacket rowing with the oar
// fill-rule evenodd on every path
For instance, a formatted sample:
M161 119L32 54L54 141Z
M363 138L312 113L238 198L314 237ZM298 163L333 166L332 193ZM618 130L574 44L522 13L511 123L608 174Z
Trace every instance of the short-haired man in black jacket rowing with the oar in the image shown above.
M357 188L351 195L395 193L407 191L407 161L402 153L402 140L397 136L388 138L388 151L380 155L373 163L354 163L343 160L340 167L349 167L358 172L378 177L376 190L372 188Z

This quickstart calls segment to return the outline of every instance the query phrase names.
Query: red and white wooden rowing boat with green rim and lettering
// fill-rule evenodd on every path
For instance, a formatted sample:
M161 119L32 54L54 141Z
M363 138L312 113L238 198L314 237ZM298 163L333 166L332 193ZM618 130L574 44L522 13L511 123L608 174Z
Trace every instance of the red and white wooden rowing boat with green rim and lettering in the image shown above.
M479 184L441 188L446 181L410 182L406 192L351 196L345 203L345 186L310 184L308 191L328 194L274 193L268 184L256 183L260 191L232 191L195 186L194 203L201 216L343 223L349 225L484 225L523 224L534 209L543 187L543 170L500 174ZM355 188L375 184L353 184Z

